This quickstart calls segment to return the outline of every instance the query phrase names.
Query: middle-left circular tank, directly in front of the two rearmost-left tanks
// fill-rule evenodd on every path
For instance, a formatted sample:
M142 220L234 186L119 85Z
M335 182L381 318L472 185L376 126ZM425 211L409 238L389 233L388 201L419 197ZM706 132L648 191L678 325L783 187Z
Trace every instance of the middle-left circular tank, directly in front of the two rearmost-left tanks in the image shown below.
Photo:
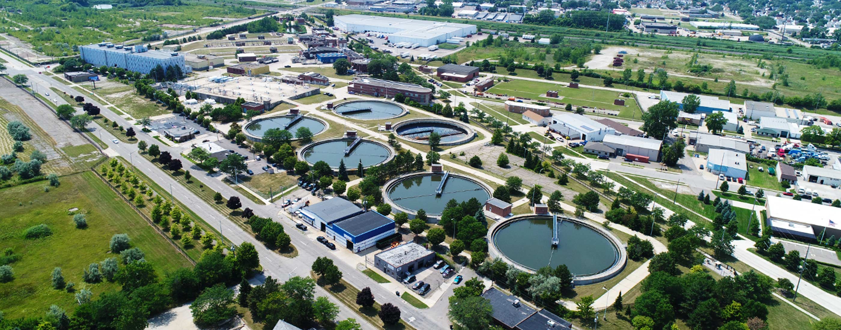
M348 170L387 163L394 157L394 149L388 145L367 139L327 139L309 144L301 149L299 159L310 165L325 161L330 167L338 168L342 160Z

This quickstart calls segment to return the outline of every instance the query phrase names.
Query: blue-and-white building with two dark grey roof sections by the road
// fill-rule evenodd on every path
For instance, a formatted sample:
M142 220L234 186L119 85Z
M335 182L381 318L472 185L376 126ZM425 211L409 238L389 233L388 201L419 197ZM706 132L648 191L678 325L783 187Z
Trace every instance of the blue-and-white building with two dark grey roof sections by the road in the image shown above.
M305 222L354 253L394 234L394 220L378 212L366 212L341 197L303 207L301 214Z

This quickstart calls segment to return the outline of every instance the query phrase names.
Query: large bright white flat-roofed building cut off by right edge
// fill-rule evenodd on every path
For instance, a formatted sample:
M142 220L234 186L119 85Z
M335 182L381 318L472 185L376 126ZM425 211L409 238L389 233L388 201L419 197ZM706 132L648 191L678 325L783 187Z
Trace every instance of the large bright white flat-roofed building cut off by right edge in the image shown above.
M806 240L817 239L819 234L825 237L841 236L838 207L768 195L765 197L765 210L765 225L783 236Z

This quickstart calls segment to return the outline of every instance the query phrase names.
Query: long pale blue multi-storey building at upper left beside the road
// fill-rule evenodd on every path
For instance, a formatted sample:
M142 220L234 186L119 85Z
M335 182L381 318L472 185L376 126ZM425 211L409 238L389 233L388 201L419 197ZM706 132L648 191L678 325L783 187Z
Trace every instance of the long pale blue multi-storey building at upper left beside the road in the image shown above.
M128 71L149 73L157 65L164 70L167 66L181 68L183 73L188 73L188 67L184 63L184 55L159 50L148 50L144 45L133 47L114 45L108 42L101 42L93 45L79 47L79 55L86 63L94 66L120 67Z

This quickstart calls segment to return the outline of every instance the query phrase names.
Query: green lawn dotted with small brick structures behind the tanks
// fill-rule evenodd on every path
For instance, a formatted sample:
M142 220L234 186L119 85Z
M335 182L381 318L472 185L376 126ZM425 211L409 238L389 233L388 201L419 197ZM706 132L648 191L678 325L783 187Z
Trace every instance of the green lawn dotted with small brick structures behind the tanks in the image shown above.
M555 97L541 97L540 95L546 94L546 91L558 91L558 97L562 98L559 100ZM598 107L601 109L617 110L621 112L620 117L627 118L631 118L632 113L637 109L637 102L632 98L625 100L625 107L613 105L614 99L623 98L619 97L619 92L584 87L569 88L551 82L513 79L507 82L500 82L491 87L488 92L538 101L572 103L576 107ZM637 114L637 118L639 117Z

